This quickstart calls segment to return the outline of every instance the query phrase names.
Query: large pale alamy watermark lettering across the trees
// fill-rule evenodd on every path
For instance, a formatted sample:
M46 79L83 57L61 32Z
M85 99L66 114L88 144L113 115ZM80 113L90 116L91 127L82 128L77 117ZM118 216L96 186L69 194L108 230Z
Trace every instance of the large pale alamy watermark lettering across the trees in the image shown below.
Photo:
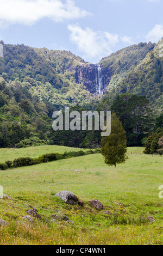
M111 111L100 111L99 113L97 111L82 111L80 114L78 111L70 112L70 108L65 107L64 115L61 111L55 111L52 117L56 118L52 125L54 131L93 131L94 129L95 131L101 130L102 137L109 136L111 133Z

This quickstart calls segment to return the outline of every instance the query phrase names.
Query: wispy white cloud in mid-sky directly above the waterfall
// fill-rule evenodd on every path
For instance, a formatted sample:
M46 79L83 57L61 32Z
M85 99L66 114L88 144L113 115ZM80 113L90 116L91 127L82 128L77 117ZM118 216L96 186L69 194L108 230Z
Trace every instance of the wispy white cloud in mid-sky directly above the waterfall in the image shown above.
M112 48L120 41L131 44L133 40L128 36L120 37L105 31L93 31L87 27L82 29L79 25L68 25L70 40L76 44L79 51L83 52L84 58L101 59L112 53Z

